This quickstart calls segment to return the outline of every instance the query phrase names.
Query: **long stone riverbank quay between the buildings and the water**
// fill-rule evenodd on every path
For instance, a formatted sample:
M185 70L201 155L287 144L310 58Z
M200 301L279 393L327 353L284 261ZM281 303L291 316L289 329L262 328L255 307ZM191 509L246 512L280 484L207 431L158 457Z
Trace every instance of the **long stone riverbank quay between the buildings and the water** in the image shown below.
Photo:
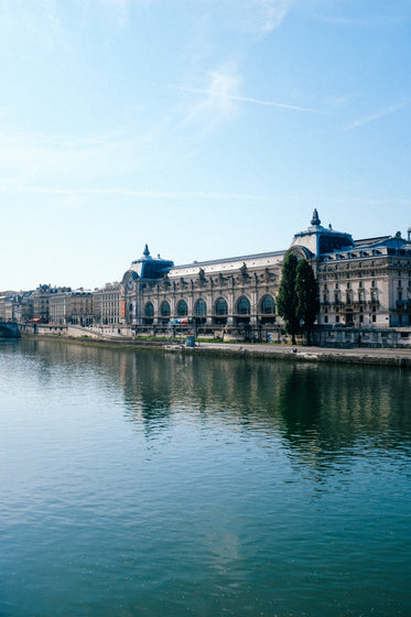
M139 338L91 338L66 336L24 335L23 338L37 340L58 340L97 347L116 347L123 349L150 348L163 353L207 354L216 356L235 356L261 358L267 360L286 360L296 362L340 362L350 365L374 365L411 368L410 349L389 348L326 348L314 346L298 346L278 344L246 344L246 343L196 343L195 347L187 347L183 343Z

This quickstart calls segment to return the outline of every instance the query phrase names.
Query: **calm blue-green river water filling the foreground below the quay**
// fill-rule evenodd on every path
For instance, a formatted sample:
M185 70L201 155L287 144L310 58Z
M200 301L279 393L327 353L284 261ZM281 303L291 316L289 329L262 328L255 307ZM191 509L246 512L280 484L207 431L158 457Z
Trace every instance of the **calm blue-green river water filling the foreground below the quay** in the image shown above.
M411 371L0 339L1 617L411 615Z

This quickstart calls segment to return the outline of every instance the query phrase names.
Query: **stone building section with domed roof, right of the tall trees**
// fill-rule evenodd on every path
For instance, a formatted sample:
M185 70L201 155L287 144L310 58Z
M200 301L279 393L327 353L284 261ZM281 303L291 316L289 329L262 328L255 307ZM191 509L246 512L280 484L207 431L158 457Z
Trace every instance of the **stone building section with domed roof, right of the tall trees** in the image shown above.
M411 230L353 240L325 229L314 210L311 227L294 236L291 251L309 259L321 291L318 324L411 325Z

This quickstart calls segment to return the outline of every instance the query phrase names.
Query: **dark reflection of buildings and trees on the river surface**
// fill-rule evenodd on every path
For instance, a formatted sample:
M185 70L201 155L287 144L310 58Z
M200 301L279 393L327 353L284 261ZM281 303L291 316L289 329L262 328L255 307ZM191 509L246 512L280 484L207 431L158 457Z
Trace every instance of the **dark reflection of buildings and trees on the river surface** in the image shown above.
M410 446L410 371L55 342L36 342L35 349L44 388L58 371L62 379L95 381L102 397L122 402L126 419L147 439L184 416L199 429L252 432L263 447L280 444L317 469L358 447Z

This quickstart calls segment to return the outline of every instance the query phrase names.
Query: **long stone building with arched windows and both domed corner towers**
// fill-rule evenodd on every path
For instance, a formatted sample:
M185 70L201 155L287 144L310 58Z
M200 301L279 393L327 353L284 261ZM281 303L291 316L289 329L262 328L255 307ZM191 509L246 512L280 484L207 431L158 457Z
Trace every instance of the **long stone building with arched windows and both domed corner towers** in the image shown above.
M394 236L354 240L323 227L316 210L291 247L232 259L174 266L142 257L119 289L119 323L156 331L181 323L236 335L281 326L275 297L286 252L307 259L321 290L320 325L401 327L411 325L411 242Z

